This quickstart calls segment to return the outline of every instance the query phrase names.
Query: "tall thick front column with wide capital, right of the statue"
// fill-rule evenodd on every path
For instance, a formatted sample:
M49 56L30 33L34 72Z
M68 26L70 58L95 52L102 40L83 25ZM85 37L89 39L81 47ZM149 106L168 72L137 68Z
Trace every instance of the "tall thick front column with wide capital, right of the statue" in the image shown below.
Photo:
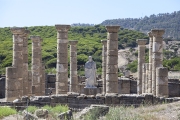
M120 26L106 26L107 66L106 95L118 93L118 31Z

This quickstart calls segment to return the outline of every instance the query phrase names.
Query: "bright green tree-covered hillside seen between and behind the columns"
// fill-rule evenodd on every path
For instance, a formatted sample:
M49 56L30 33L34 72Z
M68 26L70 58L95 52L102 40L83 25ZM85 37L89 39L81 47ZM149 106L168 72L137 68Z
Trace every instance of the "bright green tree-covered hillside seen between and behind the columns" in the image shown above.
M54 26L27 27L30 35L39 35L43 38L42 59L45 63L46 72L55 72L57 58L57 31ZM12 33L9 28L0 28L0 74L5 73L5 68L12 65ZM148 39L148 37L134 30L123 29L118 32L119 49L136 47L136 39ZM93 56L97 64L98 72L101 72L102 39L107 38L104 26L95 25L90 27L71 27L68 32L69 40L78 40L78 71L84 74L84 64L88 56ZM31 43L28 39L29 69L31 68Z

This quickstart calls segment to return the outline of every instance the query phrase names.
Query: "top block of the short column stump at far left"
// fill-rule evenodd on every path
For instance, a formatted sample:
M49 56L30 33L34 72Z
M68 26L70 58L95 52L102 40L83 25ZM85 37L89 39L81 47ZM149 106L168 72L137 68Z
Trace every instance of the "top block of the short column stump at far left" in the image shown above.
M9 79L16 79L17 77L17 68L15 67L7 67L6 68L6 78L9 78Z

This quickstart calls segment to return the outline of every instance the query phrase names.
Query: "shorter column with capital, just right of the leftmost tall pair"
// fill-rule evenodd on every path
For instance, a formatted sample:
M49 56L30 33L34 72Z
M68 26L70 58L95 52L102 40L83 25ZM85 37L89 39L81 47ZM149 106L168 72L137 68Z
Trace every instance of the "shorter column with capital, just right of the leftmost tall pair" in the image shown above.
M41 37L30 36L32 40L32 94L42 95L41 92Z

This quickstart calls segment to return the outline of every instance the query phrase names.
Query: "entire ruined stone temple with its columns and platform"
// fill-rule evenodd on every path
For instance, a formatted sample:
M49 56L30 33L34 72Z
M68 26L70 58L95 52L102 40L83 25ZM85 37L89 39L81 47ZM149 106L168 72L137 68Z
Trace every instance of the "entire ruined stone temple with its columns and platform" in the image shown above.
M46 74L42 61L43 40L32 40L32 66L28 70L27 36L25 28L13 27L13 62L0 76L0 98L6 102L34 96L33 105L68 104L85 107L89 104L139 105L173 101L180 96L179 80L168 80L168 69L162 66L164 30L153 29L149 35L149 63L145 63L146 39L138 39L138 78L118 77L118 31L120 26L106 26L107 40L102 42L102 77L96 78L96 87L86 88L84 76L77 74L77 40L68 40L70 25L55 25L57 30L56 75ZM68 44L70 45L70 78L68 79ZM5 87L3 87L5 86ZM176 88L177 91L172 90ZM22 100L23 101L23 100ZM34 101L34 102L33 102ZM5 104L5 103L4 103ZM22 103L24 104L24 103Z

